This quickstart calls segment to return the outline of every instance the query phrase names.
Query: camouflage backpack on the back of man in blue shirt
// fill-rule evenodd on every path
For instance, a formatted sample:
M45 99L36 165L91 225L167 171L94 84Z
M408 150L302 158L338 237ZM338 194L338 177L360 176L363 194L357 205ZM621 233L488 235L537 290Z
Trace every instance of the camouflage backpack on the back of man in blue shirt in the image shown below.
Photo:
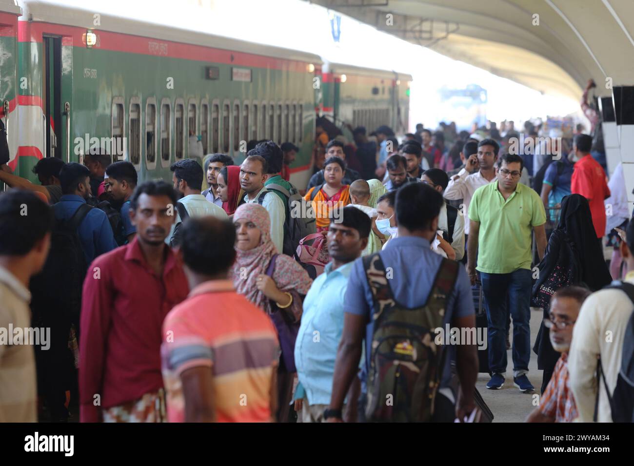
M446 357L434 330L443 326L458 262L443 259L427 302L412 309L394 299L378 253L363 257L363 266L374 300L366 418L428 422Z

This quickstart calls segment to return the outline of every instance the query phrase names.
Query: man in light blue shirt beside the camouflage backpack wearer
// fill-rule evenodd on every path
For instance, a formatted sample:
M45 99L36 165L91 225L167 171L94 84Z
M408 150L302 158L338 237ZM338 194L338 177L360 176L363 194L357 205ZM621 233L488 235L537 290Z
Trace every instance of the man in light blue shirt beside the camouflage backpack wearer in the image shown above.
M356 207L344 207L339 221L331 219L328 254L332 261L318 276L304 299L304 313L295 341L299 385L295 409L301 405L302 422L325 422L330 403L337 346L344 328L344 296L354 259L368 244L372 223ZM358 385L357 385L358 387ZM357 388L354 387L354 388ZM353 391L354 392L354 391ZM356 396L348 398L348 414L356 417Z

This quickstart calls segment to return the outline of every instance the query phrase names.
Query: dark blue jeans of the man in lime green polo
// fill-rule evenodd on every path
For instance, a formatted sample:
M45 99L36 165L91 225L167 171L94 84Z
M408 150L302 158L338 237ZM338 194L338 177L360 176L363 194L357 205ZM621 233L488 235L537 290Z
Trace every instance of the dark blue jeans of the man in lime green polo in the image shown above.
M481 272L480 276L489 323L489 370L499 374L506 372L507 320L510 311L513 318L513 372L514 377L519 377L528 372L531 359L531 271Z

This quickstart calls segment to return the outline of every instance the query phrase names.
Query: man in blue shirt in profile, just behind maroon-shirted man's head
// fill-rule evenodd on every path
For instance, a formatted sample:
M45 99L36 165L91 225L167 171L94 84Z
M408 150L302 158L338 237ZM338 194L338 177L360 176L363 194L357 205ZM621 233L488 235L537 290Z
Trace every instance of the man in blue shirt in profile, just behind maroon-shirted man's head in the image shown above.
M131 243L136 235L136 227L130 220L130 198L136 188L137 174L131 162L121 160L115 162L106 169L106 183L108 193L113 202L120 205L122 236L127 238L127 243Z

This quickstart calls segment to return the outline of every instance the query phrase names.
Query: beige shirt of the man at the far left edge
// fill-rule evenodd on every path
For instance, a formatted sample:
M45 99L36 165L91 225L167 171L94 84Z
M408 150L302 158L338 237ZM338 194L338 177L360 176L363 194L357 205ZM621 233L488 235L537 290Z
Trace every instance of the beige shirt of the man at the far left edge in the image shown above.
M9 326L29 328L29 290L10 271L0 266L0 422L37 422L36 361L32 344L9 344Z

